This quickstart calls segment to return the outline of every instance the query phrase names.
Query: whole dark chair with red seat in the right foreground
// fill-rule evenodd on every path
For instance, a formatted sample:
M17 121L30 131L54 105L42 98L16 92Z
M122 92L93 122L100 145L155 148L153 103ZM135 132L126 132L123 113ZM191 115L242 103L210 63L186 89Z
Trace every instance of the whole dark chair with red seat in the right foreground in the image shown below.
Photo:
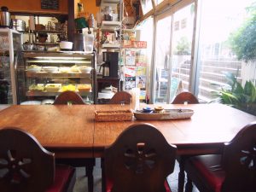
M256 122L245 126L230 143L224 143L222 154L200 155L186 160L186 191L192 183L200 191L256 191Z

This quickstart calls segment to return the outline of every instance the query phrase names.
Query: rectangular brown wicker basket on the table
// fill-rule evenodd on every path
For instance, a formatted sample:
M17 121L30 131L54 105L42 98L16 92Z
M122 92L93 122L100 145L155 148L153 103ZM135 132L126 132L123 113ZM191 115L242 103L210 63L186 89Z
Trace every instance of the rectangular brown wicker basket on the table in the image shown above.
M96 111L96 121L124 121L132 119L131 110Z

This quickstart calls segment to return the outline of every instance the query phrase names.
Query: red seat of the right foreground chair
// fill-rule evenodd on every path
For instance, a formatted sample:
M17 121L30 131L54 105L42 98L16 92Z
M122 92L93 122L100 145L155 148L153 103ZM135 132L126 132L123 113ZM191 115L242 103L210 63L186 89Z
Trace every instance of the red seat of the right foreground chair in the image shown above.
M220 154L207 154L189 158L185 163L186 172L194 175L192 181L199 180L209 191L219 192L224 183L225 173L221 165ZM192 175L192 174L189 174Z

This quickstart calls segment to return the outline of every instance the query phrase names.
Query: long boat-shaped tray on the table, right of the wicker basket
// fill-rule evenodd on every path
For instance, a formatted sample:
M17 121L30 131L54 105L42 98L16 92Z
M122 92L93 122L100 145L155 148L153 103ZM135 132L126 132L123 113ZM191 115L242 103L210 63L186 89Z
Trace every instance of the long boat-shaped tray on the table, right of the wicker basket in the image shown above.
M134 112L138 120L189 119L193 114L192 109L165 109L163 113L143 113L143 110Z

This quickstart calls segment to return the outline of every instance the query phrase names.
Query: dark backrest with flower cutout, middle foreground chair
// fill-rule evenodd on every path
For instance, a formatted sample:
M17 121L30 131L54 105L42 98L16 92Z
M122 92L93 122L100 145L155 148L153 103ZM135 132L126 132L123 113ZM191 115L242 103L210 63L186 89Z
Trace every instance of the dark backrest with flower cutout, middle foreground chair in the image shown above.
M162 192L173 172L176 146L167 143L153 125L135 124L105 148L104 157L112 192Z

